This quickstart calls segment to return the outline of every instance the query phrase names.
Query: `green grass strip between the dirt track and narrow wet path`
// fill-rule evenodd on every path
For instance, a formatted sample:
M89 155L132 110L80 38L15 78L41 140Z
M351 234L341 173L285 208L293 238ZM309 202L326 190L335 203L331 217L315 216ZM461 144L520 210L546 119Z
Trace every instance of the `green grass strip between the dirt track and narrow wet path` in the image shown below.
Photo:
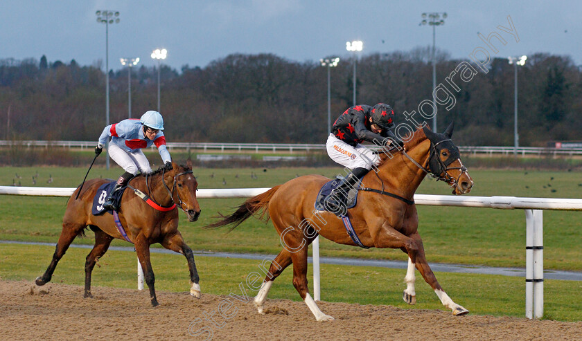
M0 247L0 278L32 283L33 279L42 275L53 252L54 248L51 246L3 244ZM84 285L87 253L87 249L70 248L55 270L52 282ZM201 256L195 258L201 278L202 295L240 294L238 284L243 283L247 288L247 275L252 272L261 273L261 261L258 260ZM157 291L189 290L188 266L182 255L152 253L151 259ZM93 272L93 293L98 293L98 286L136 288L135 268L134 252L109 250ZM309 268L308 279L311 282L312 273L311 267ZM327 302L387 304L406 309L446 309L420 276L417 276L416 281L417 304L405 304L401 299L405 288L404 276L405 270L322 264L321 299ZM523 278L460 273L436 273L436 277L450 297L473 314L524 316ZM544 286L546 318L582 320L582 301L574 298L576 295L579 297L582 291L581 282L547 279ZM312 292L311 286L310 291ZM247 291L247 294L255 295L256 292ZM269 298L300 300L292 286L292 269L288 268L276 279ZM79 291L79 299L82 299L82 291Z

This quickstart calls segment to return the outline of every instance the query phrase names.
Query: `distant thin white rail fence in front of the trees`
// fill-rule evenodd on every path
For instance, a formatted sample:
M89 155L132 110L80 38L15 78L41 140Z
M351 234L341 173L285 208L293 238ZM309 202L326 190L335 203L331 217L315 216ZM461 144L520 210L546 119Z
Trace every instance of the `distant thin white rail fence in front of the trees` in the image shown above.
M7 140L0 140L0 147L1 146L10 146L10 145L20 145L23 147L63 147L63 148L81 148L81 149L92 149L96 146L96 141L7 141ZM196 149L206 151L255 151L258 153L259 151L314 151L319 150L323 151L326 149L326 146L323 144L282 144L282 143L211 143L211 142L168 142L167 144L169 149L177 148L177 149ZM154 147L152 147L153 149ZM547 148L547 147L518 147L515 149L514 147L495 147L495 146L459 146L459 149L462 153L470 153L470 154L502 154L509 156L513 154L514 151L517 154L522 156L526 155L536 155L536 156L574 156L574 155L582 155L582 148L574 147L574 148Z

